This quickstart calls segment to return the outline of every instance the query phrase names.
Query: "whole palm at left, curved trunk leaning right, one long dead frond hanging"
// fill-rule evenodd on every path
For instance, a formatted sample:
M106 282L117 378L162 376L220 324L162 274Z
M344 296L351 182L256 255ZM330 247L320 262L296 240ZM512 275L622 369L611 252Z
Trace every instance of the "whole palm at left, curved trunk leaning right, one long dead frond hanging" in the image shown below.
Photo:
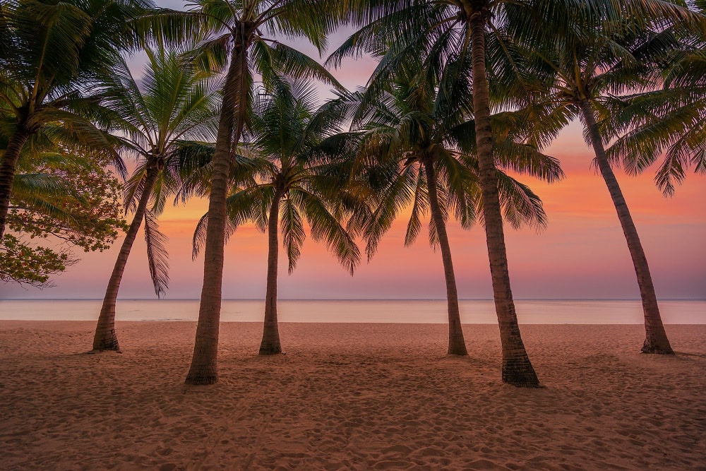
M138 86L125 61L114 67L111 82L102 90L104 105L114 112L113 126L124 133L125 148L138 157L138 165L125 187L126 209L133 208L128 228L98 316L93 350L119 350L115 333L115 303L123 271L143 219L150 275L157 297L167 290L165 238L157 215L175 183L179 183L181 153L193 141L215 139L220 97L212 81L184 64L183 50L145 48L148 66ZM152 207L148 205L152 201Z

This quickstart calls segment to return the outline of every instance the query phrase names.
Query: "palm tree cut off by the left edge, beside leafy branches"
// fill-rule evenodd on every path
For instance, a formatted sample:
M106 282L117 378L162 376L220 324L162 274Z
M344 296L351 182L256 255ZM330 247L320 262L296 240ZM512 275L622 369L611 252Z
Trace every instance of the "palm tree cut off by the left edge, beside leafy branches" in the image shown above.
M43 129L54 126L84 148L111 153L87 117L95 100L84 90L119 50L133 45L128 20L150 6L147 0L9 0L0 6L0 134L8 138L0 165L0 237L18 158Z

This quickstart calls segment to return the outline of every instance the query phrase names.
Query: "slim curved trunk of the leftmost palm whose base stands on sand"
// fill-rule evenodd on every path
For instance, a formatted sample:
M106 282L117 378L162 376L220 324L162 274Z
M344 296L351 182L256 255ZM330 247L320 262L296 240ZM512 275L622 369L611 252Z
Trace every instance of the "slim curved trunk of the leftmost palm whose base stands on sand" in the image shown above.
M150 196L152 195L152 188L155 186L155 181L157 181L157 173L156 167L149 168L147 171L145 188L143 189L142 196L140 196L135 215L130 223L127 234L125 234L125 240L120 246L118 258L115 261L113 271L108 280L108 287L105 290L105 297L103 298L98 323L95 327L95 334L93 335L93 350L99 352L103 350L120 351L118 336L115 333L115 302L118 297L120 281L123 278L123 272L125 271L130 251L137 237L137 233L140 230L140 225L142 225L143 217L145 217L147 203L150 201Z

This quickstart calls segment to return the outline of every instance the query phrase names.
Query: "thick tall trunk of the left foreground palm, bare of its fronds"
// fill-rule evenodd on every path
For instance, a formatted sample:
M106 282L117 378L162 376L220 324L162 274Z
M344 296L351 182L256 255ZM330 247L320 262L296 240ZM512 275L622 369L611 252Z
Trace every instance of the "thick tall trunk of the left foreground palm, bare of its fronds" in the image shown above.
M225 251L226 197L232 152L240 140L244 124L247 100L248 47L248 42L240 40L234 44L224 86L216 148L213 155L211 191L208 198L201 303L198 308L196 340L193 345L191 367L189 374L186 375L186 384L213 384L218 381L218 328L220 326ZM237 122L234 124L236 115Z

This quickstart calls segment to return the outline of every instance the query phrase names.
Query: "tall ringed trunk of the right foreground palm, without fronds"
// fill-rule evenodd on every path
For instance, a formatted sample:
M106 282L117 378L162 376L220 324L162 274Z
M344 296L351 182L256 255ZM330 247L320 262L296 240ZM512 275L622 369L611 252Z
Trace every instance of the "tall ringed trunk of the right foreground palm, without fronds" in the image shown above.
M487 2L482 2L484 5ZM472 31L473 107L476 145L480 172L481 198L485 220L486 242L493 280L493 298L498 315L503 349L503 381L514 386L539 387L530 357L520 336L515 302L510 287L508 255L505 251L503 215L498 194L498 179L493 159L493 133L490 124L488 79L486 76L485 23L489 12L481 10L470 20Z

